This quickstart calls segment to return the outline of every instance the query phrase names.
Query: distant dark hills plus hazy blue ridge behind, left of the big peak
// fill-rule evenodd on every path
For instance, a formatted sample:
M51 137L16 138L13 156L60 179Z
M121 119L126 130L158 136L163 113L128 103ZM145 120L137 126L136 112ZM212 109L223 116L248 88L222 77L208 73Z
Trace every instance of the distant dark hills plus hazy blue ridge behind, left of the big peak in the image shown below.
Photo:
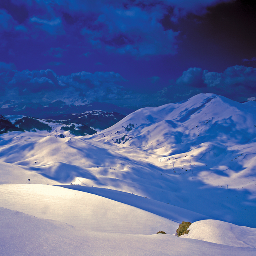
M59 129L68 131L70 135L91 135L116 124L132 111L101 102L74 105L57 100L43 106L33 102L6 101L0 104L0 134L25 130L51 132Z

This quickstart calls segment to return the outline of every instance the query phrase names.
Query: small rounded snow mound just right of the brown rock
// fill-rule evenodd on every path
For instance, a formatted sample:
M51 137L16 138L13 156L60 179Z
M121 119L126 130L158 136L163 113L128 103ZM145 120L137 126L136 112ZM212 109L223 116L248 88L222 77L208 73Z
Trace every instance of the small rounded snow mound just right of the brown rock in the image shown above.
M220 220L200 220L192 223L188 234L180 237L193 238L236 247L256 248L256 228L237 226Z

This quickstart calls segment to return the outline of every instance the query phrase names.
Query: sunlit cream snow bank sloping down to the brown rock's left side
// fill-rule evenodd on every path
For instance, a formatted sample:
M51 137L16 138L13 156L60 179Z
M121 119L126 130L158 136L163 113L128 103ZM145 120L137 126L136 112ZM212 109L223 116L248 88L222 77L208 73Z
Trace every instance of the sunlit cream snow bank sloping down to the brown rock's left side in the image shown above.
M174 234L177 222L82 191L43 184L0 185L0 207L96 232Z

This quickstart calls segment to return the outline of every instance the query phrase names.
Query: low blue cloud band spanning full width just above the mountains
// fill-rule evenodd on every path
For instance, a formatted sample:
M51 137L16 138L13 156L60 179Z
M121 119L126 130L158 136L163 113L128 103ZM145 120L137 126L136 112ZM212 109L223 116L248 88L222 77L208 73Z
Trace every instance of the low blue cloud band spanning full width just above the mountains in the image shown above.
M115 72L77 72L58 76L52 70L12 70L12 64L0 63L0 100L32 100L48 104L53 100L74 102L108 102L119 106L139 108L177 102L198 93L216 93L243 102L256 96L256 68L232 66L222 73L201 68L189 68L170 86L154 94L128 92L125 80ZM8 70L9 68L9 70ZM160 78L153 76L148 83ZM221 93L220 93L221 92Z

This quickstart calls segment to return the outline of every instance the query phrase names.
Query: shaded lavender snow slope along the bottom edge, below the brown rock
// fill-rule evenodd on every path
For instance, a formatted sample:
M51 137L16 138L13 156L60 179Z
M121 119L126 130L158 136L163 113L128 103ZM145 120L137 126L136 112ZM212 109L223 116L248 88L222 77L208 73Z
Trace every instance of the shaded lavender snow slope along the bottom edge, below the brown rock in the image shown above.
M251 256L239 248L169 234L129 235L80 229L0 207L1 256Z

